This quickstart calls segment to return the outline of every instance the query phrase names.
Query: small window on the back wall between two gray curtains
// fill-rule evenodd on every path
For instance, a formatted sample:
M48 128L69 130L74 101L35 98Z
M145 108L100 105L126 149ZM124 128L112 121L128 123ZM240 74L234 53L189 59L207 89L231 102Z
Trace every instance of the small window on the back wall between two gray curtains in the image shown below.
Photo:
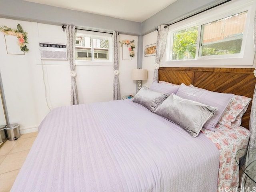
M112 40L111 36L108 36L108 34L106 34L106 36L98 36L97 34L77 33L76 64L91 65L91 62L111 62L110 42L112 42ZM90 63L88 63L88 61Z

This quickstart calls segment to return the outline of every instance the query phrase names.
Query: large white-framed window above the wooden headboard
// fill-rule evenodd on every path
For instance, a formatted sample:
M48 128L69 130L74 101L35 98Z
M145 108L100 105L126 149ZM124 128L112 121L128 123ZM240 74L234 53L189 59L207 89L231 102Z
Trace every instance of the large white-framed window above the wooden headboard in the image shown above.
M255 6L251 8L252 1L246 0L241 7L240 1L170 26L166 49L166 61L170 62L163 65L252 65L253 54L247 46L252 39L247 34L252 30ZM224 61L232 58L240 61ZM247 63L242 63L241 58L246 58Z

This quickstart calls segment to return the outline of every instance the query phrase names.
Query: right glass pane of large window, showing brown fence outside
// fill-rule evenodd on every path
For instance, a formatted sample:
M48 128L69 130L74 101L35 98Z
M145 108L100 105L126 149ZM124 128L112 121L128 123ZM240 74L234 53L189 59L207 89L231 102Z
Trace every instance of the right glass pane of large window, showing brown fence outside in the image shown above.
M241 52L247 11L202 25L199 56Z

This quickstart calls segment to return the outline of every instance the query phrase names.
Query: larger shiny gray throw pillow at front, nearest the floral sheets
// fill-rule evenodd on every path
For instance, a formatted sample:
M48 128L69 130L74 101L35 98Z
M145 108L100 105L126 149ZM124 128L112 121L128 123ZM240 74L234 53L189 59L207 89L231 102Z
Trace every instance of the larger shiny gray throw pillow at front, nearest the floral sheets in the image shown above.
M171 122L174 122L192 137L198 136L203 125L218 110L196 101L183 99L171 94L154 112Z

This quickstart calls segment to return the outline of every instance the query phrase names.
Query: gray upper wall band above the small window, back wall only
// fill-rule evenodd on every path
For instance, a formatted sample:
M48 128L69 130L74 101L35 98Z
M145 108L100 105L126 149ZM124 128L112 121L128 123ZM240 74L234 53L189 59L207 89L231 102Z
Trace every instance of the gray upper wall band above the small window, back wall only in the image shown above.
M98 30L116 30L124 34L138 35L141 33L141 23L139 22L23 0L0 0L0 17L55 25L72 24L83 28Z

